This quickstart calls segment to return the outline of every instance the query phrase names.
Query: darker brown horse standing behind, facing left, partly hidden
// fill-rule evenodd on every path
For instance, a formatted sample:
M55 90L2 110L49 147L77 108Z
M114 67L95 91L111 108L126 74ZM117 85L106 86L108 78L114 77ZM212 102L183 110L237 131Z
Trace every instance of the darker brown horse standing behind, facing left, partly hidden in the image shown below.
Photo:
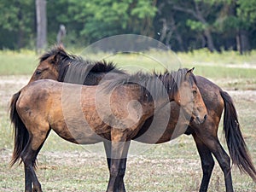
M90 67L87 67L87 65ZM68 55L64 49L58 47L42 55L40 63L35 70L35 73L33 73L30 82L37 79L55 79L64 81L67 76L68 68L73 66L77 68L77 71L85 73L84 78L82 78L84 79L84 84L99 84L102 78L111 79L115 76L124 74L124 72L116 69L112 63L107 64L104 62L94 63L91 61L84 61L75 55ZM108 73L107 76L105 76L106 73ZM109 75L109 73L111 73L111 75ZM206 103L208 116L203 124L195 125L195 123L190 123L189 128L185 129L183 132L185 132L185 134L192 134L201 157L203 177L201 180L200 191L207 191L208 184L210 182L214 166L212 154L216 157L218 164L224 172L226 191L233 191L230 172L230 157L234 165L238 166L241 171L246 172L254 181L256 181L256 171L247 151L246 143L241 135L240 125L236 115L236 108L234 107L231 97L211 81L200 76L196 76L195 78L201 91L201 96ZM81 80L79 83L81 83ZM11 108L15 108L15 101L18 97L19 93L13 97L13 102L10 106ZM225 153L224 148L219 143L217 135L218 124L223 110L224 133L230 151L230 157ZM10 118L12 119L15 127L22 127L22 122L17 120L19 118L16 118L15 110L13 109L12 111L13 113L10 114ZM169 114L170 119L167 127L162 127L164 130L157 132L153 131L159 130L161 127L158 127L157 129L148 129L153 118L151 117L151 119L148 119L145 122L142 129L137 134L136 140L144 143L164 143L174 137L177 137L179 134L183 134L183 132L178 132L178 134L177 132L174 132L177 130L175 129L176 126L178 128L180 126L179 124L177 125L179 113L180 109L177 104L175 102L171 102L171 113ZM16 133L15 138L19 138L19 135L19 133ZM152 136L154 135L156 135L156 137L153 138ZM22 146L22 144L20 144L20 146ZM106 144L105 147L108 149ZM15 151L19 151L19 148L20 147L18 146ZM15 153L14 157L17 157ZM108 159L108 164L109 162L110 161ZM125 170L125 166L123 166L123 170ZM123 181L121 179L120 181L120 185L122 185Z

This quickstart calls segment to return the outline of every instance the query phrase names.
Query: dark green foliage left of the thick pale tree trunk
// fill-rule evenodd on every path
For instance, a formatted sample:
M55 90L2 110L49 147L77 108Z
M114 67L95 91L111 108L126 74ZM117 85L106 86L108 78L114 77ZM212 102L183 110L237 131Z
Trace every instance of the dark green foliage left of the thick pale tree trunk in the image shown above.
M32 0L2 0L0 3L0 49L20 49L33 37Z

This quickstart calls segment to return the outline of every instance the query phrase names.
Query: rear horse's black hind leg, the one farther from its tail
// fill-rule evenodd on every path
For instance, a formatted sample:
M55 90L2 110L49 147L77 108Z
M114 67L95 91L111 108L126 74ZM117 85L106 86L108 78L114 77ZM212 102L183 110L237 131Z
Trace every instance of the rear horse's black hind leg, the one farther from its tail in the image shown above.
M200 192L207 192L209 183L210 183L210 178L212 176L212 169L214 167L214 160L212 158L212 153L207 148L207 146L201 142L201 139L197 137L196 134L193 134L196 148L198 150L198 153L201 158L201 168L203 172L203 177L201 179L201 187L200 187Z

